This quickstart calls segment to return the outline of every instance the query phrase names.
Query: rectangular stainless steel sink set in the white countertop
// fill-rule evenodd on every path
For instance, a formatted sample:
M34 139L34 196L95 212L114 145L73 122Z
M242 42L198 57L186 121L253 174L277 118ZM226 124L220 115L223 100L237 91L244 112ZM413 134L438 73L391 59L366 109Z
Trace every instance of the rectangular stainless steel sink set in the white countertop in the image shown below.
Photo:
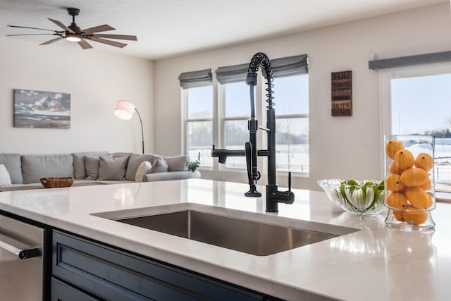
M175 207L166 207L166 210L160 207L156 211L144 216L142 209L141 216L132 214L132 211L94 215L257 256L275 254L359 231L199 204L177 204ZM118 217L125 215L132 217Z

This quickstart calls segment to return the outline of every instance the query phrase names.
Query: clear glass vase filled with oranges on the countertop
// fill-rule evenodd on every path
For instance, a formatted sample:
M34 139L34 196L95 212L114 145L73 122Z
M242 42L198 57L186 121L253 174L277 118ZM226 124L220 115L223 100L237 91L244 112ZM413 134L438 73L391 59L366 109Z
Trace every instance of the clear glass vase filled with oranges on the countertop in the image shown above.
M435 226L434 137L385 136L385 224L407 230Z

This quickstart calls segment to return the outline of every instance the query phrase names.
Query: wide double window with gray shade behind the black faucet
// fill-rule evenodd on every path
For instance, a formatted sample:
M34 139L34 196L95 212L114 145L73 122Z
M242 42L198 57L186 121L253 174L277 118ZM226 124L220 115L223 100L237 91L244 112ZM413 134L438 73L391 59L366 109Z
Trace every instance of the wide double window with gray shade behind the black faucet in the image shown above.
M276 110L276 164L278 171L309 172L309 85L307 55L271 60L273 68L273 97ZM244 149L249 141L247 121L250 116L249 86L246 85L249 64L219 67L216 78L221 84L220 133L226 149ZM266 80L260 75L261 87ZM256 96L259 125L266 127L265 92ZM261 97L265 97L261 99ZM257 105L261 102L263 111ZM259 130L266 144L266 132ZM262 147L259 147L262 149ZM266 162L266 160L264 160ZM266 163L265 163L266 164ZM245 157L228 157L226 168L246 168Z

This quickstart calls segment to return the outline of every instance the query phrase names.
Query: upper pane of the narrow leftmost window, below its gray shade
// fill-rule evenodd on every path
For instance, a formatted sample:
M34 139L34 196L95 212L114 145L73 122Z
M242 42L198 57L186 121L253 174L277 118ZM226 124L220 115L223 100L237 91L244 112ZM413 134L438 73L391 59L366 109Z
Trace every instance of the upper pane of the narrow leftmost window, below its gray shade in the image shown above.
M187 89L187 118L213 117L213 86Z

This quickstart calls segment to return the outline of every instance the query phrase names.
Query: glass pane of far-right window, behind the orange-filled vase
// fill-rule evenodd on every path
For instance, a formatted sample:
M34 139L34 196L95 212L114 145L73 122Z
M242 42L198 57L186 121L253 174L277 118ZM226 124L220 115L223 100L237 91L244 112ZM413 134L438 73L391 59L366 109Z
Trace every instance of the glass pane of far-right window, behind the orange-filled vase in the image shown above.
M435 137L435 190L451 192L451 74L390 80L393 135Z

